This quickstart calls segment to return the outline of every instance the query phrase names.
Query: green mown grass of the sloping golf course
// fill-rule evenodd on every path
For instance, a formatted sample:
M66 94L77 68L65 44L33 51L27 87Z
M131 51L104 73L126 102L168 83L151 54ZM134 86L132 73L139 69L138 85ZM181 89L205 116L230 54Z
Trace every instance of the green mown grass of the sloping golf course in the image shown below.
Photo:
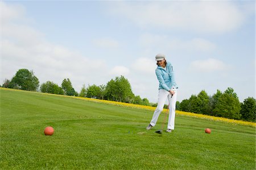
M158 135L164 114L146 131L152 111L25 91L0 95L1 169L255 169L253 127L177 115L175 131ZM43 134L47 126L52 136Z

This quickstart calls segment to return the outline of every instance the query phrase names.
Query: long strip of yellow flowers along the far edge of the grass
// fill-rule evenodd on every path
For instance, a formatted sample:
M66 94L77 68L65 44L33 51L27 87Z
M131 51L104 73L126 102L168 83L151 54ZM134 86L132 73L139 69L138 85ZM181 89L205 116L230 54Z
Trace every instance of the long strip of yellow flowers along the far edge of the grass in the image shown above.
M7 88L0 88L0 89L13 90L13 91L23 91L23 90L7 89ZM31 93L39 93L39 92L31 92ZM134 105L134 104L131 104L131 103L106 101L106 100L102 100L102 99L93 99L93 98L85 98L85 97L63 96L63 95L59 95L59 94L49 94L49 93L40 93L40 94L61 96L61 97L69 97L69 98L81 99L81 100L85 100L85 101L100 102L100 103L106 103L106 104L109 104L109 105L125 106L125 107L131 107L131 108L136 108L136 109L145 109L145 110L151 110L151 111L155 110L155 107L152 107L152 106ZM166 111L166 109L164 109L163 111ZM188 117L207 119L207 120L210 120L210 121L219 121L219 122L232 123L234 125L245 125L245 126L256 127L256 123L254 123L254 122L238 121L238 120L234 120L234 119L213 117L213 116L210 116L210 115L189 113L189 112L179 111L179 110L176 110L176 114L177 114L177 116L184 115L184 116L188 116Z

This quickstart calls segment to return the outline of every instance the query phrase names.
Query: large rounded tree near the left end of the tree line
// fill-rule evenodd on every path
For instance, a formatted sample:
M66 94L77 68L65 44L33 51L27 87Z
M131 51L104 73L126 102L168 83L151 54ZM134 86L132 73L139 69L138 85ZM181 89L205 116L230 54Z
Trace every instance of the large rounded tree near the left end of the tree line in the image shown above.
M35 91L39 87L39 80L33 71L19 69L10 82L10 88Z

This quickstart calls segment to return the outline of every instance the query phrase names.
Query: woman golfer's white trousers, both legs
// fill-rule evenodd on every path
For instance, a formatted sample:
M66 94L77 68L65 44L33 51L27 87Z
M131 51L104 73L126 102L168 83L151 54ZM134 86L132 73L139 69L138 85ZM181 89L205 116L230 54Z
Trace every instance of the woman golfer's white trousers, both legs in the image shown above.
M166 102L166 98L168 98L169 102L169 119L167 128L174 130L174 122L175 122L175 110L176 110L176 101L177 101L177 90L176 93L172 96L170 92L159 89L158 92L158 106L156 107L150 125L155 126L158 121L159 114L163 111L164 103Z

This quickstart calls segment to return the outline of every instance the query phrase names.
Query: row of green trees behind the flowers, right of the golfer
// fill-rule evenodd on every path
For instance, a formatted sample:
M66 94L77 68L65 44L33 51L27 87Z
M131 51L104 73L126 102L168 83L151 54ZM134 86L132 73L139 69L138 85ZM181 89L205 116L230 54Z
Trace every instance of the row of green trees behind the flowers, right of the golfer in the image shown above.
M232 88L224 93L217 90L213 96L202 90L197 96L192 94L189 99L176 103L176 109L180 111L251 122L255 122L255 106L255 98L248 97L241 103Z

